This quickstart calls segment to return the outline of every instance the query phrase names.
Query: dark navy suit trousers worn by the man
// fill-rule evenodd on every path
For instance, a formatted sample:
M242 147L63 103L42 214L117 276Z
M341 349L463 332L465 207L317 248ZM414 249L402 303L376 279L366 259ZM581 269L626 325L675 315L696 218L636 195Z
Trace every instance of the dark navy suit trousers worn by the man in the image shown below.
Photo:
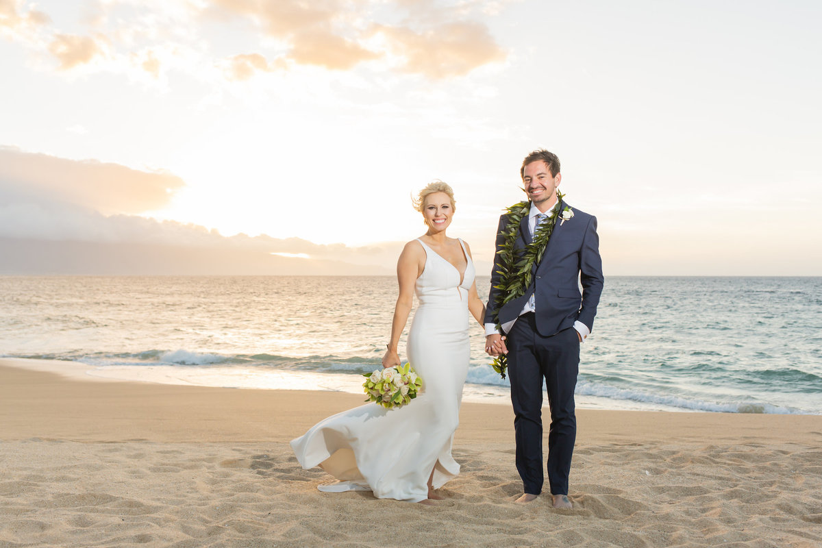
M552 495L568 494L568 475L576 440L574 389L580 371L576 329L550 337L537 331L536 315L521 315L507 334L508 376L514 405L516 467L525 493L543 491L543 379L551 406L548 482Z

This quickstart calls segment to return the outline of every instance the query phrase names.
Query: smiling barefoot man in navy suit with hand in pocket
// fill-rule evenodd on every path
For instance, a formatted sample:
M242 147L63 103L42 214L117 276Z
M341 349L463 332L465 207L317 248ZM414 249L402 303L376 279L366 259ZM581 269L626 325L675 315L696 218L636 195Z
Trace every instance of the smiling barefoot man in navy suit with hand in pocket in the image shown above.
M485 316L485 349L491 356L507 357L515 414L516 467L524 487L517 502L530 502L543 491L544 379L551 406L547 472L552 502L555 508L572 508L568 475L576 439L574 389L580 343L593 328L603 291L597 219L572 209L557 196L562 176L555 154L533 151L525 157L520 175L529 202L518 210L522 213L518 228L508 227L512 214L500 218ZM501 250L513 244L515 258L511 264L515 263L525 256L539 225L546 222L553 222L553 229L547 243L551 225L537 233L544 252L542 259L534 262L524 294L498 306L504 296L495 286L501 283L499 270L506 260ZM497 322L504 334L496 329Z

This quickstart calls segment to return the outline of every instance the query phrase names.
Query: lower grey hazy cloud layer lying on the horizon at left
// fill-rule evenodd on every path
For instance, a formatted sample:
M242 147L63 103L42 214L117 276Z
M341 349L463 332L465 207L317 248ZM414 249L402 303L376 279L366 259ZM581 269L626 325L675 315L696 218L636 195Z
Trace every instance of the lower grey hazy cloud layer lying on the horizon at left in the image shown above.
M402 246L224 237L195 224L106 216L0 187L0 274L391 274Z

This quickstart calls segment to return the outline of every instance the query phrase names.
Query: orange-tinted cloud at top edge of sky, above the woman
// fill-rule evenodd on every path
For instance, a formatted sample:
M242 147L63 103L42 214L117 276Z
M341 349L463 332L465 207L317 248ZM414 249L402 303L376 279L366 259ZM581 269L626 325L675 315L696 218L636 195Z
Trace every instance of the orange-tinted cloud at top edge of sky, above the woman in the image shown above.
M477 67L506 58L487 25L469 19L472 5L437 8L434 2L387 2L385 12L409 12L404 25L380 24L377 8L386 2L301 2L281 0L212 0L212 5L250 18L266 34L288 44L289 61L333 70L349 70L360 62L385 58L372 45L375 31L402 61L399 70L432 78L463 76ZM393 17L395 18L395 17ZM445 22L443 22L445 21ZM250 75L250 67L242 71ZM248 76L250 77L250 76ZM234 77L236 78L236 75Z

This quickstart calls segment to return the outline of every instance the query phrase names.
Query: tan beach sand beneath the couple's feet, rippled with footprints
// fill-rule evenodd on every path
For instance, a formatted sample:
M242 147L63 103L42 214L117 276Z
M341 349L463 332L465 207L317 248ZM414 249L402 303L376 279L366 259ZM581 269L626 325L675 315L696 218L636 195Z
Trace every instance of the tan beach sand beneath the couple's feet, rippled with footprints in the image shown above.
M0 360L0 547L822 546L820 416L579 410L575 509L556 510L512 502L510 407L465 403L462 472L428 507L321 493L330 477L293 458L358 395L83 367Z

